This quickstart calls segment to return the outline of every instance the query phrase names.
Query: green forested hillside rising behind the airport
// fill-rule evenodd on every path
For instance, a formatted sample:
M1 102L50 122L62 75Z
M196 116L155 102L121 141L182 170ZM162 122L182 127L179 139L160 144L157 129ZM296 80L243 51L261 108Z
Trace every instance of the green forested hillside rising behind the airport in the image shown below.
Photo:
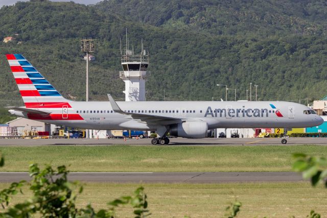
M120 37L150 51L147 100L224 98L217 83L249 83L260 100L317 99L327 93L325 1L104 1L95 6L37 1L0 9L0 105L21 104L6 53L22 53L67 98L85 99L82 37L96 39L90 97L124 99ZM233 93L230 93L230 99Z

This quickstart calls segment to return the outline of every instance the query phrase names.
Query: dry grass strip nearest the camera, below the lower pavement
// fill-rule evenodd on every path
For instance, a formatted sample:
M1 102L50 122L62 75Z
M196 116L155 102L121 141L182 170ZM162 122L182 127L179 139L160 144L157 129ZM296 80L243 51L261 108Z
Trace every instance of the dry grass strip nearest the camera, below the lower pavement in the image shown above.
M106 203L130 195L139 184L85 183L78 206L91 203L107 208ZM241 184L143 184L148 195L151 217L222 217L229 202L242 203L238 217L306 217L311 209L327 216L327 189L299 183ZM0 184L0 189L8 184ZM27 195L29 195L27 193ZM26 197L18 195L15 202ZM132 209L119 208L118 217L131 217Z

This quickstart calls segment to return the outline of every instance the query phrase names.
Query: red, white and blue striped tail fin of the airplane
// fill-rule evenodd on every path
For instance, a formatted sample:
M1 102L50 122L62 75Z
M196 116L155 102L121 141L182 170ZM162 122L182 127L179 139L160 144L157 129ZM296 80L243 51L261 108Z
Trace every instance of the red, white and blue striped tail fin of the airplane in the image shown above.
M26 107L59 108L68 104L68 100L62 97L24 56L6 56Z

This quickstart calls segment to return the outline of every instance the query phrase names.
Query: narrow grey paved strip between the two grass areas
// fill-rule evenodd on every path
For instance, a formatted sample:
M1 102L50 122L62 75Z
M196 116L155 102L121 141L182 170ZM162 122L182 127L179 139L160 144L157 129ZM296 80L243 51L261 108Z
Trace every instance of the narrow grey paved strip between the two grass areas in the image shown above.
M298 182L297 172L71 172L71 181L109 183ZM30 181L28 172L1 172L0 182Z

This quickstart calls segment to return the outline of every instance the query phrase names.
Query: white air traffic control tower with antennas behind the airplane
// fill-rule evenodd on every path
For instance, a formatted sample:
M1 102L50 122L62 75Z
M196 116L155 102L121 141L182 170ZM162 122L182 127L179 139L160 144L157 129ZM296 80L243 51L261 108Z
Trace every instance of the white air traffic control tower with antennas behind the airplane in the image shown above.
M126 50L122 54L123 71L119 72L120 78L125 82L125 101L145 101L145 82L150 76L147 71L149 66L149 53L142 49L141 53L134 54L126 43Z

